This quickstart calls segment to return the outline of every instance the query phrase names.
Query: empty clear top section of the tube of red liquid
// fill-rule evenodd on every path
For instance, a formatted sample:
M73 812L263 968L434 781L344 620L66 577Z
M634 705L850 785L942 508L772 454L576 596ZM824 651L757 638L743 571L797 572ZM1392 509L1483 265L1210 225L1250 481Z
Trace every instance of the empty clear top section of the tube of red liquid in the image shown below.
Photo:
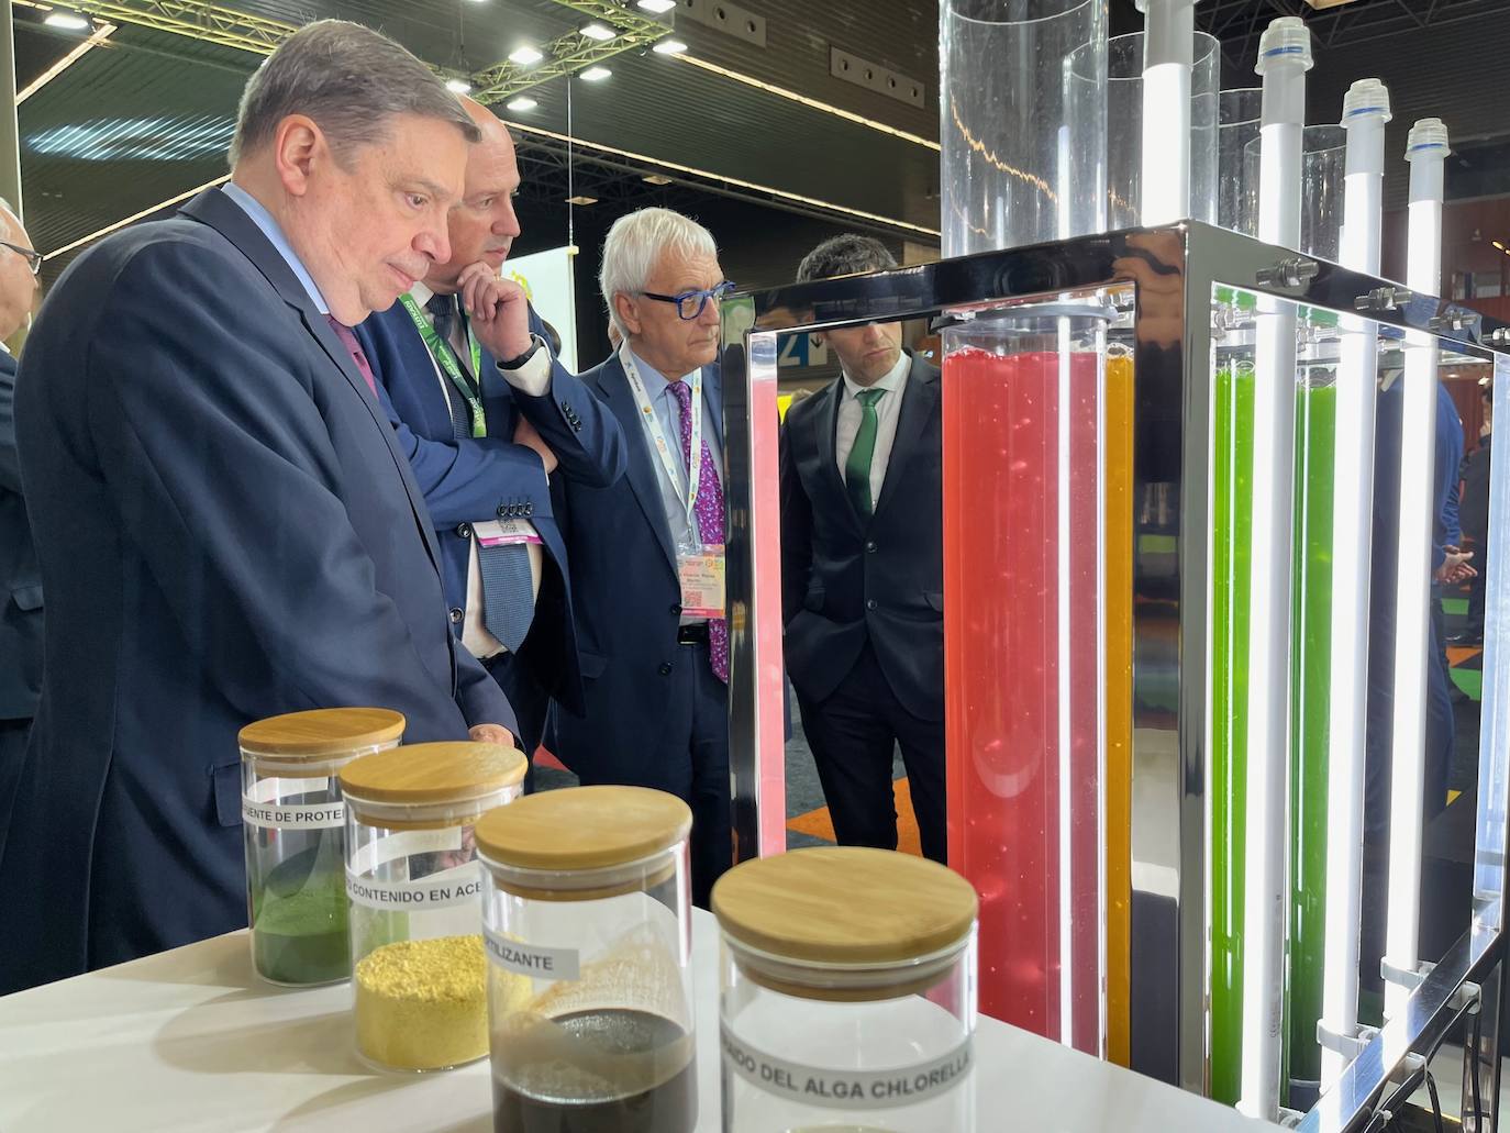
M1104 0L944 0L944 255L1105 228L1105 42Z

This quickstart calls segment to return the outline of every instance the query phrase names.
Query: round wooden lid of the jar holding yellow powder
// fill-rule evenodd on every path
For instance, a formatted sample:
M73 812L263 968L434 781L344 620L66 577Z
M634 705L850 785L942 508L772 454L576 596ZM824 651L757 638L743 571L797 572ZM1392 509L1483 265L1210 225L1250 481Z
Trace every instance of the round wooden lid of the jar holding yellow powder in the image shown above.
M409 743L341 767L341 793L359 802L465 802L512 787L528 770L524 752L501 743Z

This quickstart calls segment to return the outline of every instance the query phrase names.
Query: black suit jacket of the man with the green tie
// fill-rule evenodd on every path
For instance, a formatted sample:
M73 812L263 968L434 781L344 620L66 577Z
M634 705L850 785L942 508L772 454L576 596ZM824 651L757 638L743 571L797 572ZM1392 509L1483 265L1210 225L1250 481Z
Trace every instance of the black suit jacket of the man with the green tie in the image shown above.
M781 444L787 674L805 699L838 687L868 641L897 699L944 719L944 532L939 372L912 360L897 440L864 521L835 464L844 379L787 411Z

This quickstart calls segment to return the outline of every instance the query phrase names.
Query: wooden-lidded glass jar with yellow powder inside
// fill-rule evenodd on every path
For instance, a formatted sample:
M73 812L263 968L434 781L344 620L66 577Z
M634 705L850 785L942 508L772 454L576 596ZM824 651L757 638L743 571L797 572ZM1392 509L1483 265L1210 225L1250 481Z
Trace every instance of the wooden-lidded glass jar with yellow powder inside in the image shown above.
M356 1053L367 1062L450 1070L488 1053L473 828L519 796L525 769L522 752L473 742L415 743L341 769Z

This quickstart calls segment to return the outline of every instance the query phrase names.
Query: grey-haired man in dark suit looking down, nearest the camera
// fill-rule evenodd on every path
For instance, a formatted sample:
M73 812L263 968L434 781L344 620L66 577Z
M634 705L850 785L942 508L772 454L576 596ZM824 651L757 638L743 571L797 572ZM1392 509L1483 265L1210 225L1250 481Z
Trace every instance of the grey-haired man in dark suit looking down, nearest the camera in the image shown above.
M0 993L246 923L251 721L373 704L409 742L509 740L350 331L450 258L474 137L397 44L310 24L248 83L231 183L44 304L17 426L47 666Z

